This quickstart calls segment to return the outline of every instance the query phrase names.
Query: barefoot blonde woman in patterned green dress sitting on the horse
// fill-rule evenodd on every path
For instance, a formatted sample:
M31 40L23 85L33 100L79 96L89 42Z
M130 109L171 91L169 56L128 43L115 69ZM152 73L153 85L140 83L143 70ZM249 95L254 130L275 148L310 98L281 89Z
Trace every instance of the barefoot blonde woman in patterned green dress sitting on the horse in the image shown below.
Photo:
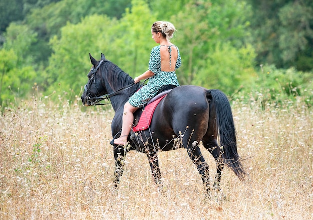
M151 51L149 69L134 79L135 83L149 78L146 86L132 95L124 105L122 131L114 144L125 145L133 125L133 113L151 100L164 85L179 86L175 70L181 66L177 46L170 43L175 27L170 22L154 22L151 28L153 40L160 44Z

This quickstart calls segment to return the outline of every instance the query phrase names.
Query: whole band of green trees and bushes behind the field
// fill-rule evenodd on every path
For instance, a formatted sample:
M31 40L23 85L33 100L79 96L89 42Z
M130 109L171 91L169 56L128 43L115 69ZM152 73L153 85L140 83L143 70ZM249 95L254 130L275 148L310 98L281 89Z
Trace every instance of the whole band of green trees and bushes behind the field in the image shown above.
M289 96L312 89L310 1L3 0L0 5L2 110L33 90L53 100L69 93L73 101L87 81L89 52L106 54L133 77L144 72L156 20L171 21L178 30L172 41L182 54L181 84L221 89L230 97L266 84L276 99L273 91Z

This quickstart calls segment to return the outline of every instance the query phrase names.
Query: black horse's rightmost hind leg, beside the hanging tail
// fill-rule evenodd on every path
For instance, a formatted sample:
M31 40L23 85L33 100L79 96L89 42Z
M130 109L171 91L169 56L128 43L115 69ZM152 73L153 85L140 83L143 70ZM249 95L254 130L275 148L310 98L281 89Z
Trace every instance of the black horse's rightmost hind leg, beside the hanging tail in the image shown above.
M210 142L205 142L203 141L203 146L205 149L207 149L214 157L215 162L216 162L216 176L215 176L215 181L214 181L214 188L217 190L220 189L220 179L221 179L221 173L224 169L224 161L221 158L221 149L216 141L216 139L210 141Z

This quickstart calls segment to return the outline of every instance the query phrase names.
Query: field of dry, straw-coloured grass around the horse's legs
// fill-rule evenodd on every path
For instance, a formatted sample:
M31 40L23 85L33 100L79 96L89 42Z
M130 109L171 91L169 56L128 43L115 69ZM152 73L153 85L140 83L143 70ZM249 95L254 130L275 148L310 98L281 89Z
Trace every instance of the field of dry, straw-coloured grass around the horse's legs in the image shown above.
M313 219L313 109L301 98L231 102L248 176L225 168L211 199L184 149L159 154L162 193L138 152L113 189L114 113L76 102L34 97L0 113L0 219Z

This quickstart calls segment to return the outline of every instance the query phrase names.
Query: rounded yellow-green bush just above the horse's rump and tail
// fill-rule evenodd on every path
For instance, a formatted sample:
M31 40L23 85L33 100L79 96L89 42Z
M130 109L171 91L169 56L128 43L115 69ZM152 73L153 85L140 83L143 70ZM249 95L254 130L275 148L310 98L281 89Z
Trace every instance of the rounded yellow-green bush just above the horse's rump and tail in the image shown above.
M192 84L220 89L228 95L244 88L251 89L255 52L251 45L239 50L228 44L217 44L207 54L203 68L199 69Z

